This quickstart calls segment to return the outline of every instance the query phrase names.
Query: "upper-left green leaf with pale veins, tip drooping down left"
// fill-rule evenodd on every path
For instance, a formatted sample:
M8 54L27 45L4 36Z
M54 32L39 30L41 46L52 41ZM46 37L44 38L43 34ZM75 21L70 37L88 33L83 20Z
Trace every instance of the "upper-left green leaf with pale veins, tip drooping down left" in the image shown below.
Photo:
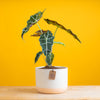
M43 11L44 12L44 11ZM23 39L23 35L29 31L30 27L32 27L34 24L36 24L40 18L43 15L43 12L39 11L38 13L36 13L35 15L30 16L30 19L27 21L27 26L23 29L22 31L22 39Z

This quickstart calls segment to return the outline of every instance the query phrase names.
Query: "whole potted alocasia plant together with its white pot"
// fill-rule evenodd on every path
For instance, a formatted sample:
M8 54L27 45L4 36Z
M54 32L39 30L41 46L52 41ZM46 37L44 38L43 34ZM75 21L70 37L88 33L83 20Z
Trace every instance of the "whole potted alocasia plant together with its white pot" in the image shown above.
M27 26L22 31L21 37L23 39L23 35L28 32L33 25L36 24L39 27L39 30L36 31L35 34L31 35L32 37L39 37L40 46L42 47L42 51L39 51L36 54L35 63L38 61L40 55L43 55L46 66L36 67L36 88L42 93L62 93L68 86L68 68L52 65L54 59L54 54L52 52L53 44L64 45L62 42L54 41L55 34L58 28L61 28L71 34L80 43L81 41L70 29L66 29L63 25L50 19L44 19L44 21L56 26L55 32L52 33L50 30L42 30L38 21L41 19L43 13L44 11L39 11L30 16L30 19L27 21Z

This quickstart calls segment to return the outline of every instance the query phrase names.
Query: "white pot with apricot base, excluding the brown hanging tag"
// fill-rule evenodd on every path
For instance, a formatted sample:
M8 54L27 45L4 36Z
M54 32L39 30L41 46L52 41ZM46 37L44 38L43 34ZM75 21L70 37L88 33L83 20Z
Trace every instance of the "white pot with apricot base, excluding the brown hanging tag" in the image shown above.
M61 67L61 66L55 66ZM49 79L49 72L52 69L41 69L36 67L36 88L42 93L62 93L68 87L68 68L54 69L56 71L55 79Z

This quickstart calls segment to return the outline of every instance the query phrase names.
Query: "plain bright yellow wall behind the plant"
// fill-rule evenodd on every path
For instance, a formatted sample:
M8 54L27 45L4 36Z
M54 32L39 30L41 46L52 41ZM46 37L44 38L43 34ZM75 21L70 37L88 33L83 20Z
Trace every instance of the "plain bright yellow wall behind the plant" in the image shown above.
M46 11L43 18L56 20L78 35L79 44L64 30L58 29L53 65L69 68L69 85L100 85L100 0L0 0L0 86L35 85L35 67L44 66L38 39L30 37L38 30L33 26L21 39L22 29L30 15ZM43 18L43 29L55 31ZM42 78L42 77L41 77Z

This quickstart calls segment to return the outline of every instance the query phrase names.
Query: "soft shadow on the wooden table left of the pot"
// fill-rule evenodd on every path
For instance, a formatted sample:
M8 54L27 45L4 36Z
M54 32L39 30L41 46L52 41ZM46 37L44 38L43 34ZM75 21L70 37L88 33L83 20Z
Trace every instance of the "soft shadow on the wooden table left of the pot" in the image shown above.
M32 93L32 94L37 94L38 91L35 88L16 88L14 91L18 93Z

